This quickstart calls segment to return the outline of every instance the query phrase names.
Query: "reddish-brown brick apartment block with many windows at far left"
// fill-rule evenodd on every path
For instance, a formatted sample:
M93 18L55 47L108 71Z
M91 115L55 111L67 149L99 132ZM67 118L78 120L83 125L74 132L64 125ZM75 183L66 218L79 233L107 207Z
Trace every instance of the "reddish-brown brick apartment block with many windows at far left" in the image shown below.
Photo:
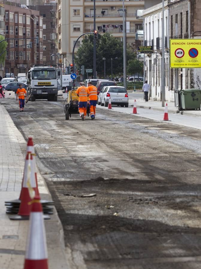
M31 64L43 63L43 17L16 2L1 0L0 3L5 10L5 38L11 38L4 72L26 73Z

